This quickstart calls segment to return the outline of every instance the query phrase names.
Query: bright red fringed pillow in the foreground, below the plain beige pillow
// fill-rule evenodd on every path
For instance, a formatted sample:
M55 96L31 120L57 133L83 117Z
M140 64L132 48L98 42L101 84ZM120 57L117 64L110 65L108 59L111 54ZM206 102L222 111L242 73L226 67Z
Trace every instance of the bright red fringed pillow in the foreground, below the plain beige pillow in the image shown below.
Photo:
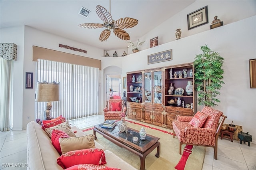
M57 159L57 164L63 169L77 164L104 165L106 163L104 151L98 148L73 150L66 154L62 154Z

